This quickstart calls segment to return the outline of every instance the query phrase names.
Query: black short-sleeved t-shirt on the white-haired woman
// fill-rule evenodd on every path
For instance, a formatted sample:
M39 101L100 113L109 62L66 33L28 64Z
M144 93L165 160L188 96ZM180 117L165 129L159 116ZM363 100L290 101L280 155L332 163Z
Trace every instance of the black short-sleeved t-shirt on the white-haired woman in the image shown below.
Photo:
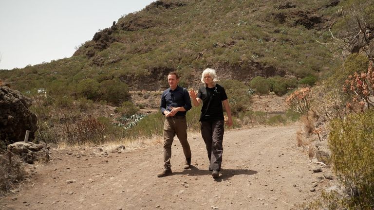
M224 110L222 107L222 101L227 99L224 87L218 84L216 84L214 88L201 87L196 97L200 98L203 101L200 121L224 120ZM211 101L209 103L210 98Z

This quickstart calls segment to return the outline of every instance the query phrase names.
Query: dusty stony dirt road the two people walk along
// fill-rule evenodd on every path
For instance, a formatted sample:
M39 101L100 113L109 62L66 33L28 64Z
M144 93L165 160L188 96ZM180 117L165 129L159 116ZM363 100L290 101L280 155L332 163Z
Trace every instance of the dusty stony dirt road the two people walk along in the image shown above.
M162 145L107 152L100 148L51 151L52 160L19 192L0 198L2 210L289 210L332 185L327 169L296 146L298 126L229 130L220 178L207 170L200 134L189 134L193 167L183 169L177 139L173 175L158 178ZM313 189L315 192L312 192Z

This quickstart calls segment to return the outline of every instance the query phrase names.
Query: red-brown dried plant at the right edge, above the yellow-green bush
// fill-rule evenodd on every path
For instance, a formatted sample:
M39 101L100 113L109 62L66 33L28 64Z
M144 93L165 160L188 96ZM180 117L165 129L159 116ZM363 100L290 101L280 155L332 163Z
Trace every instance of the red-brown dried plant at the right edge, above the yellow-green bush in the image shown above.
M352 97L352 104L347 104L347 109L353 110L355 106L359 106L361 112L374 106L374 72L373 63L370 62L367 72L350 75L345 81L343 90Z

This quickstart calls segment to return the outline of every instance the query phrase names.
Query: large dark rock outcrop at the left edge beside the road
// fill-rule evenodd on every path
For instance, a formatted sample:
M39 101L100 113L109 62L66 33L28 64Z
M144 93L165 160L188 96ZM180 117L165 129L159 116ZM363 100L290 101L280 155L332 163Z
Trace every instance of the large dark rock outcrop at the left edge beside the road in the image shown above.
M31 99L7 86L0 88L0 142L23 141L26 130L29 139L34 139L37 131L37 116L28 107Z

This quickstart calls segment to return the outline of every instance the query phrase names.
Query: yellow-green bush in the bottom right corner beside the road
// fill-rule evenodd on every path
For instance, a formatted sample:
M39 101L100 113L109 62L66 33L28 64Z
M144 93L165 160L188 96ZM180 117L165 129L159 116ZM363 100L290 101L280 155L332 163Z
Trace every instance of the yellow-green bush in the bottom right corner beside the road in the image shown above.
M350 114L331 122L330 150L334 169L350 196L341 209L374 208L374 111Z

